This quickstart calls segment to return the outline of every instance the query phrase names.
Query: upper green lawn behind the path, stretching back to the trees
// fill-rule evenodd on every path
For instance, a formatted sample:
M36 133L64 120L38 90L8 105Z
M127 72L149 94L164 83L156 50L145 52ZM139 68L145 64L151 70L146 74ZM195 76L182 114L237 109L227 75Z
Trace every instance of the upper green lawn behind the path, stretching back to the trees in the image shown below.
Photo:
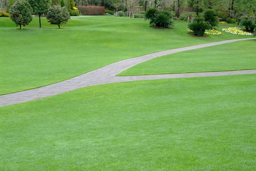
M38 28L34 18L21 31L9 18L0 17L0 95L63 81L126 58L251 37L223 32L193 38L186 34L186 22L175 22L174 29L163 30L151 29L143 19L77 17L58 29L45 18Z

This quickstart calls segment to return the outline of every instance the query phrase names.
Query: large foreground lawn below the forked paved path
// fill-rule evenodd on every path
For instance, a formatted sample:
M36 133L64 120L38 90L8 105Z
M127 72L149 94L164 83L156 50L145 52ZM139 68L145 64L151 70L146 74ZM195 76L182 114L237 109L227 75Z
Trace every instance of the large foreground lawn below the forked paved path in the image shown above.
M0 170L256 170L256 75L86 87L0 108Z

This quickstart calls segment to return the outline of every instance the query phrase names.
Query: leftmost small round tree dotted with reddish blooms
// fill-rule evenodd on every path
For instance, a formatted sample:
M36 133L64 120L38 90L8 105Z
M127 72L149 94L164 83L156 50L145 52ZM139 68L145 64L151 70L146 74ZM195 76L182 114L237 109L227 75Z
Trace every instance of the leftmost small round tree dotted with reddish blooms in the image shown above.
M32 8L26 0L17 0L16 3L11 7L11 20L16 23L16 26L28 25L32 20Z

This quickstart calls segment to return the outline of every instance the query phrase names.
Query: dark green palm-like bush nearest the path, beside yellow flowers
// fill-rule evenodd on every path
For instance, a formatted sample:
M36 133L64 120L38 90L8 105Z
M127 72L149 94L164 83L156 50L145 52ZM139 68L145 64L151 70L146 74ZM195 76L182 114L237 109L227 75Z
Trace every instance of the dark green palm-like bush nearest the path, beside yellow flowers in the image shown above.
M188 28L193 31L194 35L202 36L204 35L205 30L211 29L211 25L205 22L193 22L189 23Z

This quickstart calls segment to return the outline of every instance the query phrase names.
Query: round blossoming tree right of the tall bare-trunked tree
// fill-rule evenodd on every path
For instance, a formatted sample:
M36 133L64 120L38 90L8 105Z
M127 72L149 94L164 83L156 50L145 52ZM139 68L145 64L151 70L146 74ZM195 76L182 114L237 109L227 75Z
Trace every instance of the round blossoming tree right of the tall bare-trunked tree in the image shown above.
M66 7L61 7L60 5L53 5L49 8L46 18L50 24L58 25L60 29L60 25L66 24L68 22L68 20L70 19L70 14L67 11Z

